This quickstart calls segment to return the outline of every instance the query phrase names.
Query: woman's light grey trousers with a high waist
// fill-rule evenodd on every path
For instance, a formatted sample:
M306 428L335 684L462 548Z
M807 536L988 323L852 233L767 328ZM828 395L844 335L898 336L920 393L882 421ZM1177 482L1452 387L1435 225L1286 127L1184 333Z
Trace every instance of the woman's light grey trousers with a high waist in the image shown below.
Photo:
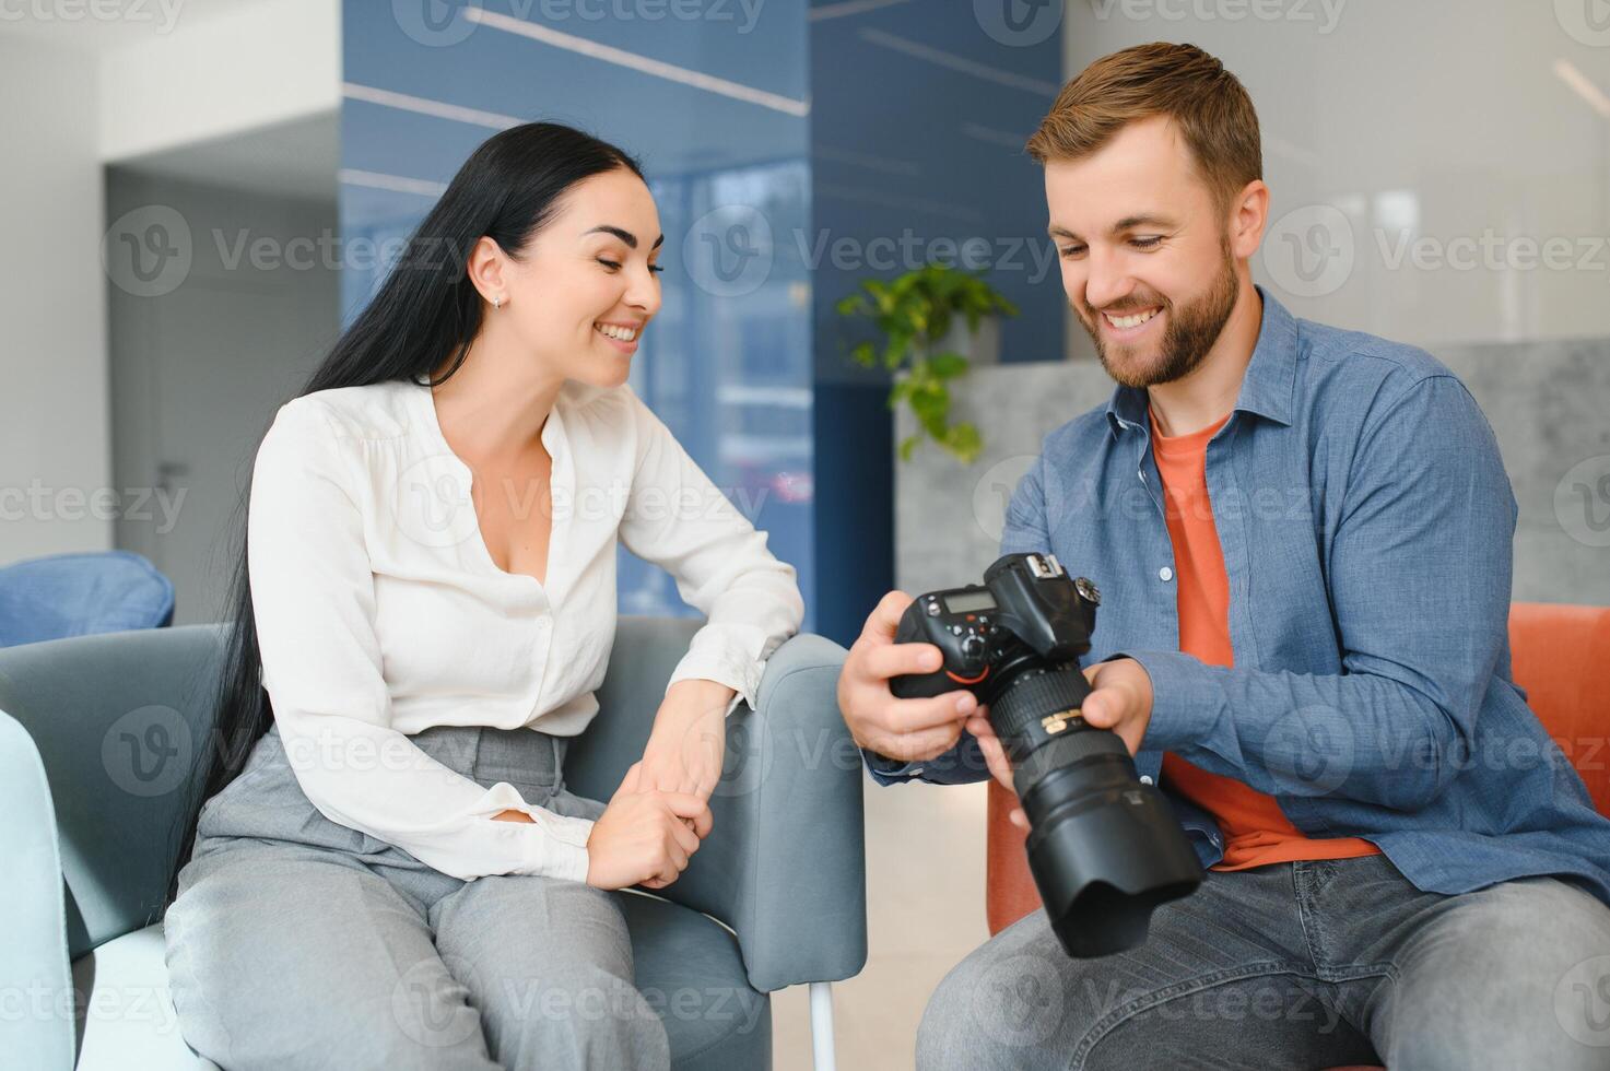
M483 786L597 818L562 738L438 726L428 755ZM201 808L167 910L179 1026L224 1071L668 1068L613 895L576 881L460 881L330 821L277 730Z

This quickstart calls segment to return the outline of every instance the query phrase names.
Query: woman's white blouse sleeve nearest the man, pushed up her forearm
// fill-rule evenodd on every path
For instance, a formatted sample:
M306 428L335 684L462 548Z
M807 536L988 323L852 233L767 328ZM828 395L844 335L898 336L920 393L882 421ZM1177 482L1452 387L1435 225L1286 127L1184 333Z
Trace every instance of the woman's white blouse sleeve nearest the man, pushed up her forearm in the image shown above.
M737 693L728 705L757 702L766 659L805 620L795 570L687 456L671 430L626 395L636 470L620 540L660 565L687 606L705 615L670 684L708 680Z

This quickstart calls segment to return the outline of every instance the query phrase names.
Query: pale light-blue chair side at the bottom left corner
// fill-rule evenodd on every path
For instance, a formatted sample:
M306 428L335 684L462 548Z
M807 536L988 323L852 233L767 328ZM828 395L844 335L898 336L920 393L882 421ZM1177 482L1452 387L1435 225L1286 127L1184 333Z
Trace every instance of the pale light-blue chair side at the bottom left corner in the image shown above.
M0 710L0 994L23 1002L0 1015L0 1052L19 1068L71 1071L74 1060L68 923L56 815L45 767L27 731Z

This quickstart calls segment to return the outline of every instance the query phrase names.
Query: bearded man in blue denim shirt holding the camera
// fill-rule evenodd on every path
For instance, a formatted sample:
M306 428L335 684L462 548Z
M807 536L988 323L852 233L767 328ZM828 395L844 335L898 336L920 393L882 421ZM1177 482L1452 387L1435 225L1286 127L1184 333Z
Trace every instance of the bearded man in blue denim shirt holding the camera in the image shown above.
M1069 958L1043 910L1000 932L919 1068L1610 1066L1610 821L1510 681L1517 507L1475 401L1253 285L1257 116L1201 50L1098 60L1029 153L1117 390L1045 438L1001 552L1101 589L1084 717L1211 870L1132 952ZM1009 789L969 694L892 697L939 667L894 643L910 601L839 683L874 778Z

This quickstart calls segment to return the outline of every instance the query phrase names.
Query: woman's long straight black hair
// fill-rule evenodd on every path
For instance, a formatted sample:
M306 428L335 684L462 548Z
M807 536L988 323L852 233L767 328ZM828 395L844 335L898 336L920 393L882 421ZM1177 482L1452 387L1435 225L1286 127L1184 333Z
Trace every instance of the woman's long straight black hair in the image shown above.
M486 139L409 237L380 293L341 333L298 396L391 380L435 385L451 378L481 327L481 295L465 274L475 243L485 235L517 256L552 219L570 187L618 167L642 177L638 161L620 148L557 122L526 122ZM431 380L444 362L451 367ZM245 511L238 515L243 519ZM235 779L274 722L262 689L245 523L237 531L240 552L225 598L232 617L225 618L217 723L211 746L201 749L206 773L193 779L190 805L179 813L164 912L177 895L179 871L195 847L201 804Z

